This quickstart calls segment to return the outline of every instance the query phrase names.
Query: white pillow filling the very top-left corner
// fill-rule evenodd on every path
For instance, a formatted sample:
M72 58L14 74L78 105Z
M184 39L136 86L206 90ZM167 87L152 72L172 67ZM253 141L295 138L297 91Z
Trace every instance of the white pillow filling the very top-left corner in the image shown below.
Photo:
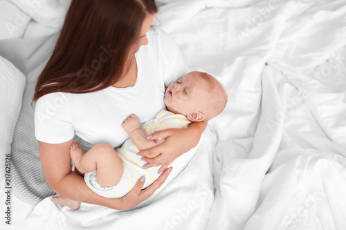
M22 37L31 18L7 0L0 0L0 39Z

